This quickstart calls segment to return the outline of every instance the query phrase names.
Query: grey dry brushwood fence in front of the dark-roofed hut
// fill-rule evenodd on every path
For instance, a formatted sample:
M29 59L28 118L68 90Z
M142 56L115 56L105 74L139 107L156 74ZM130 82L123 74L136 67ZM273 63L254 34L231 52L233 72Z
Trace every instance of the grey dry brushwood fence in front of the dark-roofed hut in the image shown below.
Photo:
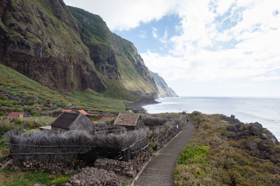
M10 145L10 152L16 162L30 160L67 162L77 158L77 153L86 153L97 146L122 150L134 144L131 150L143 148L147 144L147 132L147 129L140 129L124 130L118 134L111 133L109 135L97 133L94 136L89 136L86 132L81 132L77 135L67 136L55 135L47 131L34 131L32 133L8 131L5 137L9 144L16 144ZM143 137L145 138L142 139ZM142 140L138 141L139 139Z

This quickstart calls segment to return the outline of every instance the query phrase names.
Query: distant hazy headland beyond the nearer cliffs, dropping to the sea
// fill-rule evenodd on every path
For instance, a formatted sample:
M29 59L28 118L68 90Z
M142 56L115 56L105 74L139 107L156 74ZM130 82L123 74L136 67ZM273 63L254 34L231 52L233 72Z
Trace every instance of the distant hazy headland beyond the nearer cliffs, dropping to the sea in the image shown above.
M156 82L159 97L179 97L175 91L168 87L164 79L159 76L158 73L153 73L151 70L149 70L149 72Z

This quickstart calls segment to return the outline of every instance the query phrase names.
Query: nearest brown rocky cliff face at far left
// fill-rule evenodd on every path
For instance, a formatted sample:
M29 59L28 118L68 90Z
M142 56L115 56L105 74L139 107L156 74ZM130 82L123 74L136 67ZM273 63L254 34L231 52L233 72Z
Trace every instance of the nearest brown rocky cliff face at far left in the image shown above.
M63 1L1 1L0 62L59 92L106 88Z

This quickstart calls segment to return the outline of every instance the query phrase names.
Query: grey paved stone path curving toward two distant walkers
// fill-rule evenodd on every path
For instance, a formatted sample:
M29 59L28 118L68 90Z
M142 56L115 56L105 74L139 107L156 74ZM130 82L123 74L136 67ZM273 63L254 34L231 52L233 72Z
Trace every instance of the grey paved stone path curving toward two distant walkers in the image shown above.
M174 186L173 171L177 159L194 133L194 124L184 118L184 130L166 145L134 182L136 186Z

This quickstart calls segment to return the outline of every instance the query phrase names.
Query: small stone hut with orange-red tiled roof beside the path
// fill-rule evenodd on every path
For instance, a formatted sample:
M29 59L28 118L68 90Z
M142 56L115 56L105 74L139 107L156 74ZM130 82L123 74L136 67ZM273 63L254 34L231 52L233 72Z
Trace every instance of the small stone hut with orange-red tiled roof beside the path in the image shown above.
M144 127L141 114L134 113L119 113L114 124L131 130Z

